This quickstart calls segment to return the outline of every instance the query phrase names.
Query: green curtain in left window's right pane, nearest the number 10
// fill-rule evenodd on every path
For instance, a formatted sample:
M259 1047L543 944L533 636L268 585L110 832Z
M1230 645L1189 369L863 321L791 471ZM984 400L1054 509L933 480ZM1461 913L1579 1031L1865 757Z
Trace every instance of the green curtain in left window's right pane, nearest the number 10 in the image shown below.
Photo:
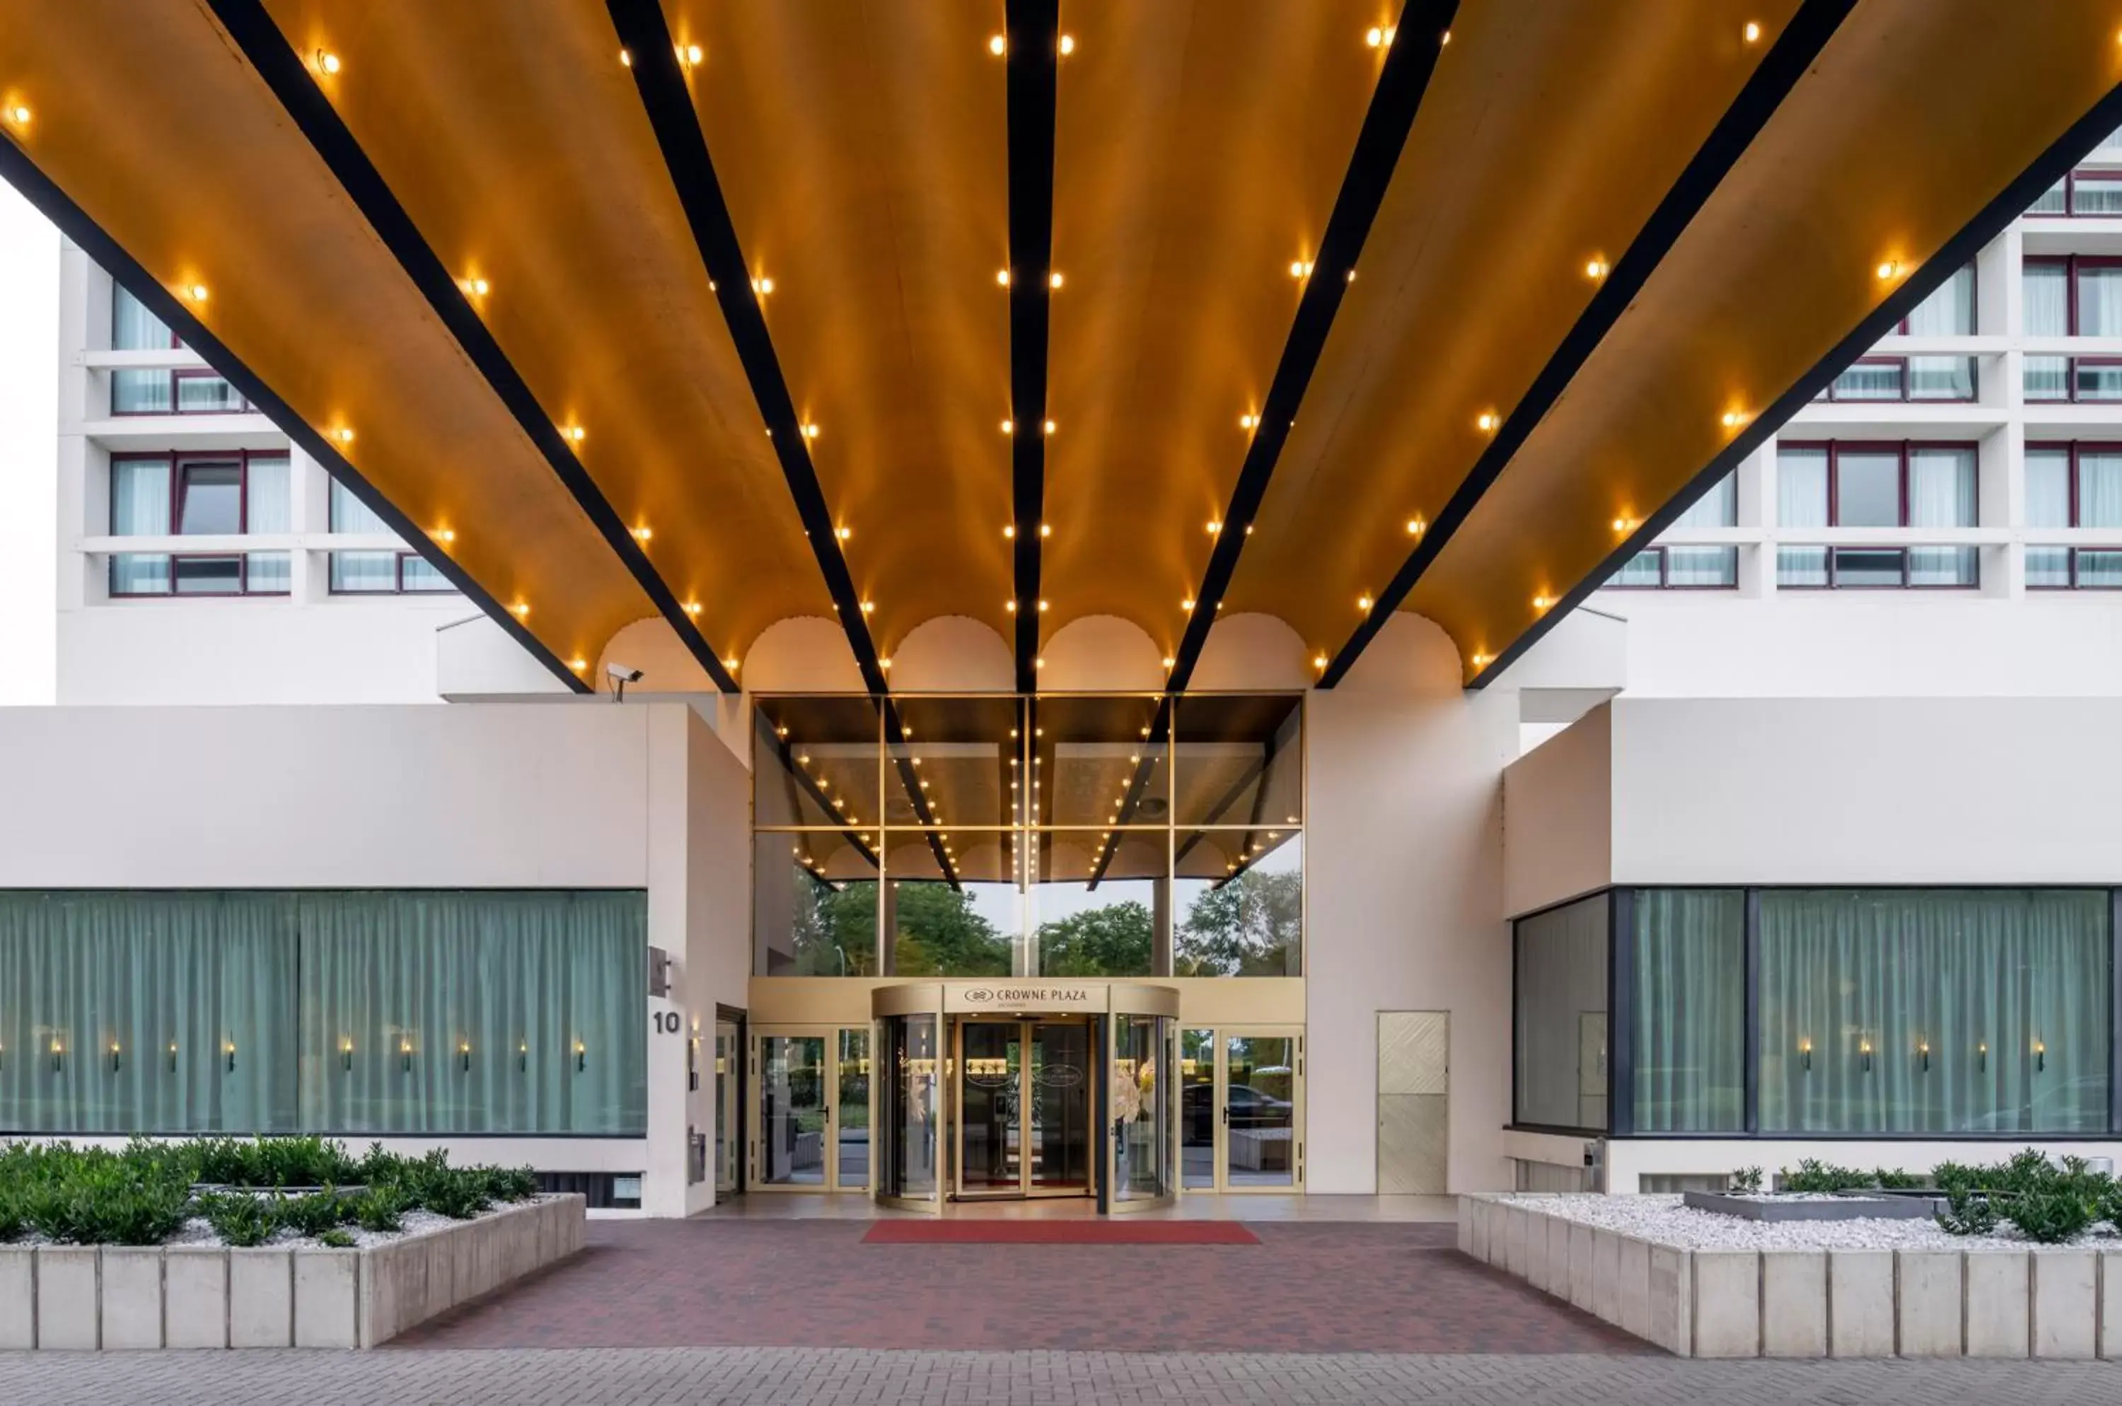
M331 1132L647 1128L641 893L301 903L301 1107Z

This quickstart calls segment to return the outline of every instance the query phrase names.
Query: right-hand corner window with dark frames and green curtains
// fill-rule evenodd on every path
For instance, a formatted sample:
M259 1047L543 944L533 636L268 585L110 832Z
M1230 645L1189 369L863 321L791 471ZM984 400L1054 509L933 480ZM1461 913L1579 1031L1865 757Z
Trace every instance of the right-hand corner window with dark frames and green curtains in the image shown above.
M1594 1099L1604 1067L1592 1073L1608 897L1515 925L1521 1124L1608 1126ZM1621 899L1625 946L1613 961L1630 1062L1611 1122L1623 1132L2111 1130L2107 889L1630 889Z

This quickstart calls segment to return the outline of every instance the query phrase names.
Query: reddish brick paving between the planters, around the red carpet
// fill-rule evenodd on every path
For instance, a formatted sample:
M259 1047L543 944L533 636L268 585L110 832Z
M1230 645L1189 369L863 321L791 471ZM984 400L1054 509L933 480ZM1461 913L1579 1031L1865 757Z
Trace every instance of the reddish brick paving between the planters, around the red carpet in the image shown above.
M1653 1353L1420 1222L1252 1222L1258 1245L864 1245L866 1219L592 1222L581 1255L416 1347Z

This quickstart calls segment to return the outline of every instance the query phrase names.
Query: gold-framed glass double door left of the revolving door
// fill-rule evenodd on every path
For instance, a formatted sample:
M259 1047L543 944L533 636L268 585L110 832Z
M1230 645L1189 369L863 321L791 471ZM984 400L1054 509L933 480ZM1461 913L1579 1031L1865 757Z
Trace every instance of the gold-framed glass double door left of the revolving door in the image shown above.
M751 1188L868 1190L870 1026L760 1031L751 1067Z

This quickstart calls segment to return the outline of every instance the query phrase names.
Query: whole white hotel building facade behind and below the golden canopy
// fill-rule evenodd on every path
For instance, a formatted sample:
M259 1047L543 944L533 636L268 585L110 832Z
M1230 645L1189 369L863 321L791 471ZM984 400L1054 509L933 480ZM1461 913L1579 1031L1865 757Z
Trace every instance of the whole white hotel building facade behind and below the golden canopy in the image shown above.
M1120 819L1125 793L1097 814L1099 768L1142 766L1150 723L1137 736L1127 708L1163 679L1156 645L1110 617L1046 645L1042 700L1127 713L1067 755L1019 738L1044 704L1012 691L985 626L932 621L895 651L893 691L959 719L944 736L923 723L940 751L919 761L987 768L980 816L895 819L893 787L925 791L921 749L817 723L870 706L832 621L770 628L743 698L709 696L656 621L596 662L645 672L622 706L550 698L70 248L62 706L0 715L0 774L30 797L0 814L0 1022L17 1007L0 1039L47 1052L0 1067L6 1122L376 1135L528 1160L651 1215L775 1190L1036 1194L1021 1124L993 1141L1019 1160L968 1181L985 1145L972 1060L1029 1090L1042 1018L1097 1009L1082 1029L1118 1039L1123 986L1156 986L1169 997L1129 1009L1169 1043L1127 1056L1127 1079L1167 1122L1116 1143L1154 1143L1146 1185L1176 1194L1632 1190L2024 1143L2118 1156L2107 254L2122 259L2114 146L1492 689L1464 691L1456 647L1420 617L1396 617L1333 691L1309 687L1280 621L1220 619L1203 715L1235 698L1233 717L1280 721L1188 738L1180 700L1173 751L1152 757L1173 810L1152 825ZM443 698L458 702L418 706ZM987 704L1014 721L949 734ZM1237 763L1205 810L1188 810L1188 746L1199 774ZM828 772L832 755L874 766L874 791ZM1042 766L1048 799L1078 768L1091 808L1008 802L1004 783ZM1063 857L1103 874L1123 853L1135 869L1106 897L1063 874ZM1190 872L1203 855L1218 863ZM1188 967L1193 910L1246 872L1294 878L1294 933ZM904 886L959 880L1014 893L963 910L1004 969L936 965ZM1078 897L1042 910L1061 889ZM1046 925L1116 908L1112 889L1140 899L1140 952L1042 965ZM110 1001L21 976L89 931L53 906L91 927L134 914L125 961L142 963L191 922L185 901L231 895L269 908L244 918L259 950L306 954L293 1026L223 990L221 1024L115 1035ZM834 906L853 916L819 916ZM238 922L216 914L197 922ZM473 999L499 959L467 933L494 914L562 976ZM401 980L393 942L463 969ZM581 952L598 944L624 952L594 967ZM912 950L932 965L908 969ZM340 986L297 988L342 967ZM1016 1052L959 1043L970 992L1048 978L1086 1005L1023 986L999 997L1023 1005ZM932 1009L932 1026L891 1024ZM119 1082L146 1041L170 1043L161 1075L182 1096ZM202 1041L233 1050L195 1069ZM278 1084L236 1096L255 1041ZM81 1060L104 1045L123 1067ZM1110 1094L1120 1060L1089 1086ZM70 1084L91 1073L108 1086ZM921 1137L957 1132L917 1156L921 1113ZM1069 1141L1101 1130L1050 1137L1084 1175L1046 1190L1120 1198L1123 1152Z

